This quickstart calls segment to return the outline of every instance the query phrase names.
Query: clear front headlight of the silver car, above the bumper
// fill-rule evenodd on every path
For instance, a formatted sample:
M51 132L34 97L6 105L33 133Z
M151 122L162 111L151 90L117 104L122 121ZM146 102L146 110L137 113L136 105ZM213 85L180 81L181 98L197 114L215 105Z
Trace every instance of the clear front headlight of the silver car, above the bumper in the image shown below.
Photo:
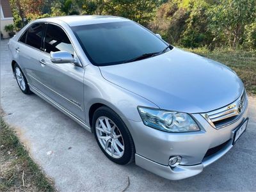
M188 113L164 111L160 109L138 107L145 125L166 132L199 131L195 120Z

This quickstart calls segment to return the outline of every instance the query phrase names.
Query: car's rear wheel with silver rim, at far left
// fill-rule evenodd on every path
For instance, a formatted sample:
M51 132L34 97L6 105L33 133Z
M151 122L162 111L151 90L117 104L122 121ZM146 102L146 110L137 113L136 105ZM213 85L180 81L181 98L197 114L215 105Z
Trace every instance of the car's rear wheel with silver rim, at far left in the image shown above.
M19 85L20 90L25 94L31 94L32 92L29 89L28 81L17 63L15 63L13 70L15 74L15 79L17 81L17 84Z

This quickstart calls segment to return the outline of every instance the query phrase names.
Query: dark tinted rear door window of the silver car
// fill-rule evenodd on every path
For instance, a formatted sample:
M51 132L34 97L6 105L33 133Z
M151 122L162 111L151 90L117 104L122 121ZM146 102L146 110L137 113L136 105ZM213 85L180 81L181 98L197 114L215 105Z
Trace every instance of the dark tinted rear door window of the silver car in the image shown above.
M33 24L31 27L28 28L28 31L26 33L28 33L26 44L35 47L36 49L40 49L42 45L42 36L44 33L43 24Z

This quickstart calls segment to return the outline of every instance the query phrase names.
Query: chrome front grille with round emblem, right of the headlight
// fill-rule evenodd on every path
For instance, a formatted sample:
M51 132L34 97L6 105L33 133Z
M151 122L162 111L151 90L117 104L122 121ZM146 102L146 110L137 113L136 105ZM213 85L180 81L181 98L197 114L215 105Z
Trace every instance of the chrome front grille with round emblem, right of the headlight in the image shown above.
M212 127L220 129L236 122L236 120L243 115L247 104L248 99L246 91L244 90L241 96L228 106L207 113L201 113L201 115L204 116L205 120L207 120ZM243 106L242 109L241 106Z

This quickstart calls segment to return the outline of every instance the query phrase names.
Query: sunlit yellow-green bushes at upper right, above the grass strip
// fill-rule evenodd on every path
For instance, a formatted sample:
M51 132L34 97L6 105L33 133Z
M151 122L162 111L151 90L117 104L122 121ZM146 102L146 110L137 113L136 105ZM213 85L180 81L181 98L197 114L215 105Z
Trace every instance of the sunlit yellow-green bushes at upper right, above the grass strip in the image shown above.
M255 18L255 0L170 0L157 8L149 26L184 47L252 49Z

